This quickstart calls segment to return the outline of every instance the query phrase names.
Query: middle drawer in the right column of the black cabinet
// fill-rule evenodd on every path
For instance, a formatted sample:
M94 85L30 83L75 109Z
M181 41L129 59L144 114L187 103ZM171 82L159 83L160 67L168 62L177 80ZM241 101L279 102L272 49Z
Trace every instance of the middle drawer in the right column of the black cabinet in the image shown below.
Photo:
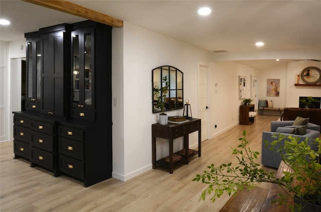
M69 157L84 160L84 143L59 136L58 152Z

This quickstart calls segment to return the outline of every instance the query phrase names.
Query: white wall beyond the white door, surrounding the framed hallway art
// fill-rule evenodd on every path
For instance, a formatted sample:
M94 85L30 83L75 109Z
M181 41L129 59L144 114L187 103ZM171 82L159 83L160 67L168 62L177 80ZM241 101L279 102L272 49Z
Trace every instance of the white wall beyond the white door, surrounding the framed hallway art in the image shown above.
M212 109L212 135L218 134L239 124L239 106L243 99L238 95L238 77L247 77L247 98L251 98L251 75L257 76L257 71L233 61L213 63L210 109ZM218 83L218 87L215 87ZM217 92L216 92L217 90ZM217 128L215 128L217 124Z

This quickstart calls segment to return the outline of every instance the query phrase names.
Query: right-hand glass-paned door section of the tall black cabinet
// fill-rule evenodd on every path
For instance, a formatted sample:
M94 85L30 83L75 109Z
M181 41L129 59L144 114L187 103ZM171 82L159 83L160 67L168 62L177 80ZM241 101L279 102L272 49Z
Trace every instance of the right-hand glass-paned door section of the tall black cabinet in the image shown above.
M92 107L92 57L91 32L72 32L72 105L78 108Z

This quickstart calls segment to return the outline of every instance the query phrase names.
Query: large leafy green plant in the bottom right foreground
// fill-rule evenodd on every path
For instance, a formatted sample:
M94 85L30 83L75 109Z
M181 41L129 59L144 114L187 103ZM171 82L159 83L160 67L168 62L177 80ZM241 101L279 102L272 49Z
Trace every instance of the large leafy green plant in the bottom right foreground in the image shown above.
M237 148L233 148L233 153L238 159L237 164L232 162L215 166L208 166L207 170L202 174L197 174L193 181L201 181L208 184L208 187L202 192L201 198L205 200L206 194L212 195L211 200L214 202L224 192L229 195L235 192L241 192L245 187L253 188L256 182L276 183L287 191L291 198L297 197L301 201L296 201L294 205L289 207L293 211L303 211L304 208L312 205L321 211L321 165L318 161L321 155L320 139L313 140L313 144L318 146L318 150L310 149L307 144L308 138L302 142L298 142L298 138L294 136L285 136L275 133L275 140L270 145L271 149L280 152L280 155L286 165L293 171L284 171L284 176L276 178L274 172L266 172L260 168L260 164L254 160L259 152L252 151L246 140L246 131L243 131L243 137L239 138L241 144ZM284 145L281 145L281 140L284 138ZM296 181L297 183L293 183ZM287 203L288 198L279 194L279 204ZM311 211L311 210L310 210ZM314 211L314 210L312 210Z

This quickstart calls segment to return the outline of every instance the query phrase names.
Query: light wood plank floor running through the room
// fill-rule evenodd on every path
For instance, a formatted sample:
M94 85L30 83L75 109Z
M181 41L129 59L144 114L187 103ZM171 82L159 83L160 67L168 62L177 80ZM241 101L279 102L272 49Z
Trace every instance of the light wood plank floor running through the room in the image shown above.
M228 197L215 203L210 198L199 201L206 185L192 179L211 163L236 161L230 146L238 145L244 129L251 149L261 152L262 131L269 131L270 121L277 119L278 116L258 115L253 125L238 125L203 142L202 157L193 157L189 165L175 169L173 174L151 169L126 182L111 178L87 188L69 177L53 177L42 168L31 168L26 160L13 159L13 142L2 142L0 210L219 211Z

